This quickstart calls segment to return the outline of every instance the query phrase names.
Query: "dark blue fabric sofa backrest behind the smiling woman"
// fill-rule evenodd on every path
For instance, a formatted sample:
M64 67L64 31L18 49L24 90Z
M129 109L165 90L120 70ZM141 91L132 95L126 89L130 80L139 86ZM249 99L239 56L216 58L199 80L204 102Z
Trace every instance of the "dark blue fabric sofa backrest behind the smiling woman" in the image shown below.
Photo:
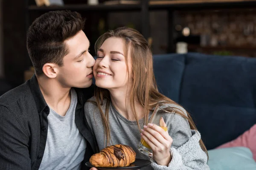
M159 91L191 113L208 150L256 123L256 59L155 55L154 73Z

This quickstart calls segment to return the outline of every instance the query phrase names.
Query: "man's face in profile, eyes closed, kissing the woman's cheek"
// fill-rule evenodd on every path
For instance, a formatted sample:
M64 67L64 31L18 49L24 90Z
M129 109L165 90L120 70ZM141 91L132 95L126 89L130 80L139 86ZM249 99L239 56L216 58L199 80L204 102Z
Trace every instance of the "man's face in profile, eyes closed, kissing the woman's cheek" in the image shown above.
M83 31L65 40L69 54L58 68L57 79L64 88L87 88L92 84L95 60L89 53L90 42Z

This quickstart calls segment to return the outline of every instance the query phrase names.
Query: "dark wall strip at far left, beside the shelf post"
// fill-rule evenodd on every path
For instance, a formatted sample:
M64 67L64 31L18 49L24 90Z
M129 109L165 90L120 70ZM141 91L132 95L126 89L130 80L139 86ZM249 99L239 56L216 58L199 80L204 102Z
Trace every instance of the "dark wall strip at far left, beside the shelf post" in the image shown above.
M23 83L26 69L26 28L24 0L3 0L3 62L6 80Z

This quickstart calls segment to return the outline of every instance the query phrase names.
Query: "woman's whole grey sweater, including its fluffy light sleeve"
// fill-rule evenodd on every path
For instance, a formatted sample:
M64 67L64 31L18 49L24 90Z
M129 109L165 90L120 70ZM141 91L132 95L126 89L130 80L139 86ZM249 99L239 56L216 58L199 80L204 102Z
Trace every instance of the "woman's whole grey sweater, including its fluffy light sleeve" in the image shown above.
M89 100L95 101L95 98L92 97ZM174 104L169 104L169 106L179 109L186 114L186 111L180 106ZM105 111L105 102L102 110ZM96 137L99 150L102 150L107 146L105 145L105 132L99 109L93 103L87 102L84 105L84 111L88 125ZM154 158L145 156L137 150L141 137L137 123L125 119L125 117L116 111L112 104L109 108L111 145L126 144L134 149L136 158L151 160L151 166L144 167L141 170L209 170L207 155L199 144L199 140L201 139L200 133L191 130L187 119L184 119L178 114L166 113L161 116L163 116L168 127L168 133L173 139L170 149L172 161L168 167L158 165L154 161ZM140 128L142 128L143 119L139 120L139 124Z

